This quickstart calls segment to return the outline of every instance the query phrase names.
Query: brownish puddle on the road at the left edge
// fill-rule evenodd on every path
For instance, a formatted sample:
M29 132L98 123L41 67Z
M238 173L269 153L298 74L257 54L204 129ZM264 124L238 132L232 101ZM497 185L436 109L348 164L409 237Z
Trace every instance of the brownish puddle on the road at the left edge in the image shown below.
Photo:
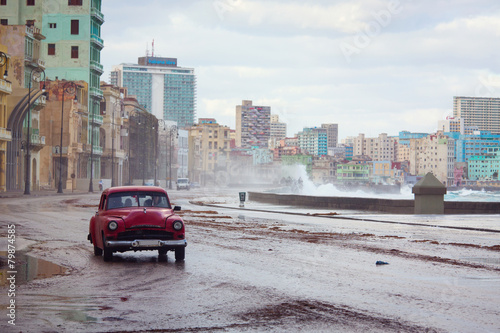
M39 259L22 252L15 254L15 268L9 268L7 252L0 251L0 286L8 285L7 278L11 275L8 272L16 271L16 284L23 284L35 279L46 279L54 275L66 274L65 267L54 264L53 262Z

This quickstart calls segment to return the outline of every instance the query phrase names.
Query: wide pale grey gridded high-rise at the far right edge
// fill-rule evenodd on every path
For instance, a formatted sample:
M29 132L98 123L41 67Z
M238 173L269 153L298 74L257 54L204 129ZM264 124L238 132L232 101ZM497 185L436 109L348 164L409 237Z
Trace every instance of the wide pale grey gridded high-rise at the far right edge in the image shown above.
M453 116L463 118L465 128L500 134L500 98L454 96Z

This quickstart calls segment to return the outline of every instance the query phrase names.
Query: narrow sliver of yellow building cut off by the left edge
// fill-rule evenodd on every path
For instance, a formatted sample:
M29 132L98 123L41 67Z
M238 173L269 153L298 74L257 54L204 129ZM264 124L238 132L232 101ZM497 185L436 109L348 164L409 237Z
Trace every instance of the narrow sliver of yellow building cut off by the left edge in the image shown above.
M0 192L7 190L7 142L12 140L12 133L7 129L7 96L12 94L12 83L8 79L9 54L7 47L0 44Z

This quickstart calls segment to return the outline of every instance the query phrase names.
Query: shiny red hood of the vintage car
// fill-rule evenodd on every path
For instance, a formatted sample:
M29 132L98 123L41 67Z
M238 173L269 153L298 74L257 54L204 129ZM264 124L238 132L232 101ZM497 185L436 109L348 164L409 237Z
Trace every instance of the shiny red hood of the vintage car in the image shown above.
M112 216L120 217L126 229L133 228L165 228L167 217L172 215L171 209L138 207L113 211Z

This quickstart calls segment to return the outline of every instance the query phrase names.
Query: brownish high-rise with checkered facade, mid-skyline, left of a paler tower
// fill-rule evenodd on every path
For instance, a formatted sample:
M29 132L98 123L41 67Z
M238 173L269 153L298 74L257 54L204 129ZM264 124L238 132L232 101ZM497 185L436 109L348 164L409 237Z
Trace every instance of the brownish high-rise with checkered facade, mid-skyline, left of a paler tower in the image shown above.
M242 101L236 106L236 146L268 148L271 136L271 107Z

